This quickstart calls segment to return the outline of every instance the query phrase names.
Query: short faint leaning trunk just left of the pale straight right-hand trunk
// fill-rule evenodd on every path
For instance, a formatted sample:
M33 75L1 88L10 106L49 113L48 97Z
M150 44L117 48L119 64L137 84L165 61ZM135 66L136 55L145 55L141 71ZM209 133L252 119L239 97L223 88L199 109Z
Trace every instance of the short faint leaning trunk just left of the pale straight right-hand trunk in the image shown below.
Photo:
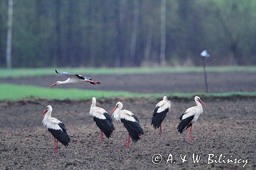
M148 66L150 63L150 53L151 53L151 47L152 47L152 36L153 36L153 27L152 27L152 20L150 20L150 23L148 25L147 30L147 38L146 38L146 48L144 53L144 64Z

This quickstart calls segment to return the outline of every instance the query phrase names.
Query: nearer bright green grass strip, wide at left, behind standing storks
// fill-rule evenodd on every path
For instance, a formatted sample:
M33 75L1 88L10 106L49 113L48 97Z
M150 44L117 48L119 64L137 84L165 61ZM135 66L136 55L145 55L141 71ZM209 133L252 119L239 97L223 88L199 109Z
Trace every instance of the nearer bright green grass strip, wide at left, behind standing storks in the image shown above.
M256 96L256 92L225 92L225 93L132 93L126 91L97 91L97 90L81 90L81 89L51 89L46 87L0 84L0 100L18 100L29 98L44 98L44 99L91 99L109 98L109 97L123 97L123 98L162 98L167 95L170 98L191 98L195 95L209 96L209 97L225 97L225 96Z

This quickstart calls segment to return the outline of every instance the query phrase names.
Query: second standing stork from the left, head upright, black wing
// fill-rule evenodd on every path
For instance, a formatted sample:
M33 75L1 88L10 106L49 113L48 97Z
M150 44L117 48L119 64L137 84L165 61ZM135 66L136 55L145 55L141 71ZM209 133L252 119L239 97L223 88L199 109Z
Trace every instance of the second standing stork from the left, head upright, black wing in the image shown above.
M96 106L96 98L92 99L90 114L93 120L100 129L100 141L102 141L102 132L107 138L110 138L115 127L111 116L104 109Z

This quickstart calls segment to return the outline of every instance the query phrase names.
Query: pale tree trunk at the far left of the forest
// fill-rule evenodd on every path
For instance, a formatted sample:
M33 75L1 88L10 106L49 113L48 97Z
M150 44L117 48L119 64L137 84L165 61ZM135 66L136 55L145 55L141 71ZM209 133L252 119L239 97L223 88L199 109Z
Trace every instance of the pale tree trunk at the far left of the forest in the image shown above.
M6 42L6 65L7 68L12 67L11 52L12 52L12 14L13 14L13 1L9 0L8 3L8 23L7 23L7 42Z

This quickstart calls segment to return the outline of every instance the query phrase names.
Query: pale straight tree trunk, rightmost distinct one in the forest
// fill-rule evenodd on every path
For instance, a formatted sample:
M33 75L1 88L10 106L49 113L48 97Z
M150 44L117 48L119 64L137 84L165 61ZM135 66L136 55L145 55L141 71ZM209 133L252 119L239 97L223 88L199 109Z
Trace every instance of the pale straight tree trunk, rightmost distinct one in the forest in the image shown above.
M160 51L161 66L165 66L165 8L166 8L166 0L161 0L161 51Z

